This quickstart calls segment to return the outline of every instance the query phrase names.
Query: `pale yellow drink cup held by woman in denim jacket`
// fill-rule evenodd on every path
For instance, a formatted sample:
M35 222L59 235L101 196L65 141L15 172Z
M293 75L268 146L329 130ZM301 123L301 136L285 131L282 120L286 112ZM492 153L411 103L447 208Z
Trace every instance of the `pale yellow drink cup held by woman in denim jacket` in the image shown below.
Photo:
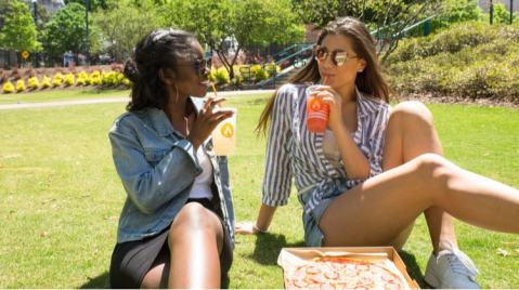
M229 108L225 108L229 109ZM212 146L215 155L228 156L234 151L236 147L236 113L232 117L221 121L211 133Z

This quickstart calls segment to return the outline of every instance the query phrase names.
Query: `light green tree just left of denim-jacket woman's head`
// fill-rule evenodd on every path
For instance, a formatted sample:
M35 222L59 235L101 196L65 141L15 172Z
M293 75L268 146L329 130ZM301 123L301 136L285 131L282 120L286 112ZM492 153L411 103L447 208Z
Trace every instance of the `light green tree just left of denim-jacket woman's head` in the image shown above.
M108 43L105 50L117 62L127 58L143 36L160 27L154 3L141 2L141 6L137 6L131 1L94 14L95 26L102 31L101 38Z

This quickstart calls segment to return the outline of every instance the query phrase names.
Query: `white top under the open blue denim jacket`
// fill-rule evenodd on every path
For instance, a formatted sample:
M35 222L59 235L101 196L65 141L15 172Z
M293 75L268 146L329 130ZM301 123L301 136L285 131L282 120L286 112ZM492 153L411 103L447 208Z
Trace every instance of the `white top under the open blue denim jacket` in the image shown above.
M202 173L196 176L193 187L191 188L190 198L208 198L212 199L211 183L212 183L212 164L209 156L204 150L204 145L198 147L196 158L202 168Z

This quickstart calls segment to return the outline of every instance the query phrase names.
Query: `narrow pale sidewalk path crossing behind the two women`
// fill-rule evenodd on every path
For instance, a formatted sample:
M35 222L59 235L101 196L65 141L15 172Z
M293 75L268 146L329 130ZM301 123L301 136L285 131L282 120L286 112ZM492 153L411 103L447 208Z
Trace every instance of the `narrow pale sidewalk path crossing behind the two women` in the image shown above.
M273 93L273 92L274 90L225 91L225 92L218 92L218 95L221 95L221 96L250 95L250 94L263 94L263 93ZM208 92L208 95L212 93ZM127 96L119 96L119 97L100 97L100 98L74 100L74 101L42 102L42 103L21 103L21 104L0 105L0 110L22 109L22 108L62 107L62 106L105 104L105 103L126 103L129 101L130 98Z

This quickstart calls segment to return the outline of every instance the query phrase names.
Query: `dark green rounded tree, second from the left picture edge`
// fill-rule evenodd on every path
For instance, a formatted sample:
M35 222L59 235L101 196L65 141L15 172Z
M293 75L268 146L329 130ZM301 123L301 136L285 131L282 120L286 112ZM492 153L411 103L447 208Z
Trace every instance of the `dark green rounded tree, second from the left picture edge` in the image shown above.
M89 42L87 42L85 13L83 5L69 3L47 23L41 39L44 51L51 58L61 58L67 51L87 53L89 47L92 51L99 48L98 34L91 25L93 32L89 34Z

